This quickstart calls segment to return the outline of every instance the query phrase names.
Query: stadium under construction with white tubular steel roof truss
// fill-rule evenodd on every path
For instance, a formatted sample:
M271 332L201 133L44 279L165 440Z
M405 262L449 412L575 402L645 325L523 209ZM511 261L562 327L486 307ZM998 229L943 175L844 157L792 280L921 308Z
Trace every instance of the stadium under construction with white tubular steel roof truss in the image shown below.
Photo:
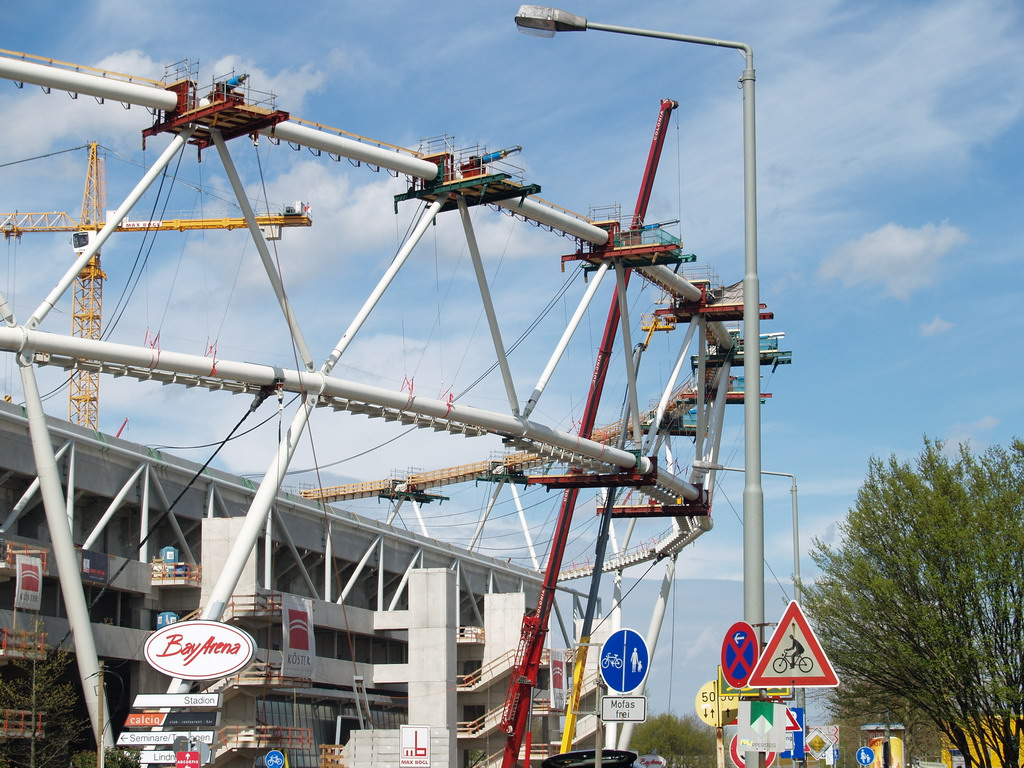
M738 285L723 286L710 269L689 267L695 257L683 252L668 224L644 221L664 128L677 104L660 105L641 194L634 214L624 218L581 216L538 198L540 186L508 165L521 147L459 150L442 137L410 151L371 141L293 118L275 98L250 90L244 77L216 78L201 87L188 68L158 82L6 52L0 55L0 78L142 106L141 115L152 116L139 126L143 137L166 143L117 208L100 215L105 206L85 204L81 219L67 224L88 237L34 312L16 316L0 296L5 321L0 351L16 359L22 384L13 401L0 402L0 664L55 644L73 647L97 742L142 749L143 760L155 765L174 764L175 752L187 748L218 768L270 765L266 756L276 752L286 754L293 768L508 767L527 755L592 744L600 685L586 648L614 626L594 627L600 574L664 561L649 631L656 641L676 557L712 527L714 476L700 467L718 461L727 407L760 406L770 396L749 374L735 376L733 369L790 361L779 334L759 335L752 353L738 329L726 325L743 317ZM323 353L307 341L267 245L274 226L309 225L307 211L282 211L284 221L261 219L232 160L232 139L257 136L391 171L407 183L383 204L420 206L393 260L354 316L342 323L337 344ZM241 228L251 234L279 322L295 350L294 368L115 343L99 333L98 316L95 325L79 324L71 334L47 330L50 310L73 286L103 280L98 254L118 232L205 228L148 220L133 226L129 216L187 145L216 153L223 166L241 216L218 228L244 223ZM90 172L90 179L94 175ZM513 371L510 330L496 309L470 215L483 207L568 238L559 242L569 243L565 250L571 253L555 259L556 269L578 269L586 278L573 294L577 309L542 371ZM494 347L499 399L508 401L501 410L492 410L493 399L424 395L412 381L389 389L341 378L335 370L424 233L438 216L456 212L478 288L473 300ZM65 225L11 216L0 221L8 237L32 225L49 230ZM649 316L630 316L631 276L633 286L653 287L658 297ZM603 317L592 302L605 279L613 286L604 336L593 375L588 372L588 381L578 387L586 393L583 416L566 429L543 416L538 402L556 369L564 367L565 350L583 319L589 312ZM88 295L83 312L98 315L97 291ZM759 310L759 318L771 317L764 307ZM662 332L675 332L681 344L665 367L671 373L657 381L655 398L644 406L641 359L651 336ZM613 355L613 347L625 351ZM614 394L625 402L623 417L598 424L612 358L626 382L625 394ZM91 382L72 390L73 402L77 397L88 403L86 416L75 418L73 410L72 420L63 421L45 414L38 372L54 369L70 380ZM537 381L526 397L515 386L523 375ZM284 414L287 397L291 422L282 418L266 473L253 481L98 431L95 409L104 377L195 396L230 393L252 413L269 403L264 408L276 404ZM339 413L443 436L490 438L487 444L502 451L473 464L444 468L445 462L436 461L429 471L397 477L290 488L286 474L310 419ZM673 437L682 438L692 459L672 453ZM456 544L438 536L422 510L443 501L445 486L466 482L493 493L471 535ZM560 506L544 538L535 542L519 494L538 486L559 492ZM514 498L517 532L529 552L524 561L481 552L501 494ZM600 531L588 541L592 556L567 562L581 494L598 499ZM358 499L381 500L390 511L373 517L347 508ZM412 510L418 524L404 525L399 509ZM616 521L628 528L612 536ZM641 536L636 526L651 532ZM38 609L15 607L26 558L41 563ZM570 607L559 612L559 602ZM288 615L296 604L304 606L312 629L306 648L311 664L301 669L288 653L294 648ZM173 679L146 664L142 649L154 631L191 620L244 629L255 640L252 663L207 681ZM563 655L575 664L572 686L550 682L552 656L556 677L568 675ZM97 681L102 681L98 691ZM567 702L560 700L566 688ZM184 717L138 698L174 691L216 694L217 703L206 714L196 710L201 714ZM8 712L3 722L0 737L6 738L45 725L24 712ZM412 757L423 763L403 760L408 726L422 729L414 736L425 740ZM610 727L601 735L606 744L616 739L627 746L630 733L629 726Z

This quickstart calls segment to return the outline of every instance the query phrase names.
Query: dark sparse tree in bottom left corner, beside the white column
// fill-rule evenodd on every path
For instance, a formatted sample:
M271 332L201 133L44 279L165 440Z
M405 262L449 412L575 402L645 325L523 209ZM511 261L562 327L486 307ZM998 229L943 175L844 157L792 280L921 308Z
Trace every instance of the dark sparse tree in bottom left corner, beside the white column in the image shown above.
M78 688L71 682L68 651L48 649L43 658L20 658L0 677L0 710L28 712L30 722L41 717L41 731L0 743L0 767L67 768L72 746L88 736L88 726L76 714Z

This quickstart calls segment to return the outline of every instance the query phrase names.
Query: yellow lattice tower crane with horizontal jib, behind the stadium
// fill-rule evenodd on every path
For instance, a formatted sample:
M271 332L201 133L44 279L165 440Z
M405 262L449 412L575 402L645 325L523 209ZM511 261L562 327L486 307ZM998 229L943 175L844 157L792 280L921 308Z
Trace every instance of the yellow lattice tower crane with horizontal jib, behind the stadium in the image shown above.
M78 147L81 148L81 147ZM72 232L72 247L81 252L93 232L103 228L106 217L106 184L99 144L88 144L89 168L82 197L82 216L76 220L67 213L0 213L0 231L5 239L20 239L26 232ZM295 203L279 214L257 216L256 223L267 240L280 240L286 226L309 226L309 206ZM247 226L243 217L207 219L164 219L157 221L125 220L117 231L160 231L174 229L239 229ZM99 253L85 265L75 281L72 305L72 334L83 339L99 339L102 331L102 292L106 275L99 266ZM83 427L98 429L99 374L75 371L71 377L68 420Z

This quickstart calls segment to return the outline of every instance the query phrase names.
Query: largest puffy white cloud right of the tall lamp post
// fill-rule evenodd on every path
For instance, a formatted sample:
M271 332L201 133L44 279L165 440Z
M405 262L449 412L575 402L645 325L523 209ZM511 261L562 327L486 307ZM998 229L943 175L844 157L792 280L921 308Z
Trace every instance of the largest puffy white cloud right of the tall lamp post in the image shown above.
M943 256L967 242L967 233L946 221L916 229L886 224L840 246L819 269L826 280L843 285L866 283L882 293L905 299L935 281Z

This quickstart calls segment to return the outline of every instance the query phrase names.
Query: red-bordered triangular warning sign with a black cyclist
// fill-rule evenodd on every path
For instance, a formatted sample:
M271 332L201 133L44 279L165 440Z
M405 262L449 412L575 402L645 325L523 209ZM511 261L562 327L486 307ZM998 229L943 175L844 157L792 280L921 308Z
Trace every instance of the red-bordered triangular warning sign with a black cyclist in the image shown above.
M796 601L786 607L746 685L752 688L839 685L836 671Z

